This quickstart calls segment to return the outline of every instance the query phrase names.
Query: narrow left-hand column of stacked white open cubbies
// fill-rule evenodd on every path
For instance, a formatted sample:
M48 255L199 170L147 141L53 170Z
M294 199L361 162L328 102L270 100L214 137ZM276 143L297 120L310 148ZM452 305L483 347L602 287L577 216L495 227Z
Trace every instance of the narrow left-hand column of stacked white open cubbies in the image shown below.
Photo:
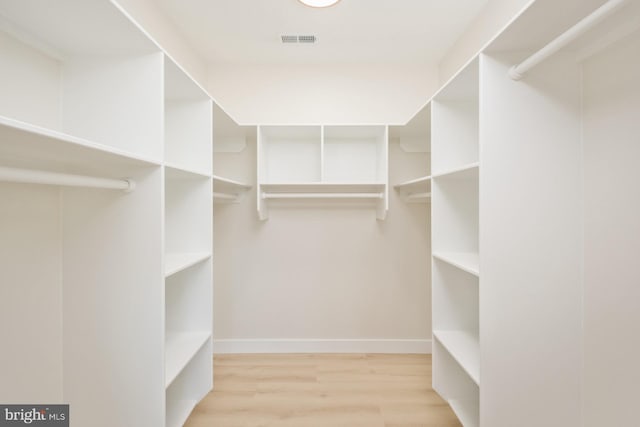
M166 427L213 386L211 99L165 56Z

